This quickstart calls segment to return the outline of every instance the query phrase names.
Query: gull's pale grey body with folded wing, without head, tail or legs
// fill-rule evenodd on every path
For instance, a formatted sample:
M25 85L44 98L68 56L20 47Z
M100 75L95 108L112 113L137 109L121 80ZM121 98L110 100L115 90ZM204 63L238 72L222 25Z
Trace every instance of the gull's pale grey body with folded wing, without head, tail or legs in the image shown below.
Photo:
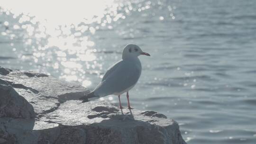
M95 93L103 97L116 92L122 92L135 85L140 77L141 70L133 63L122 61L118 67L108 74L102 81Z

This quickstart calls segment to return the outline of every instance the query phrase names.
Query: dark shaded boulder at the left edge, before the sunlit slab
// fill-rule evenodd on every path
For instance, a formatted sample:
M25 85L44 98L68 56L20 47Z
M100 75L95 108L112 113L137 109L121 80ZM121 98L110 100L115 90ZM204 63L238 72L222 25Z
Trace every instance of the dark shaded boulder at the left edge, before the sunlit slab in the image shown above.
M0 117L34 118L34 108L11 86L0 84Z

